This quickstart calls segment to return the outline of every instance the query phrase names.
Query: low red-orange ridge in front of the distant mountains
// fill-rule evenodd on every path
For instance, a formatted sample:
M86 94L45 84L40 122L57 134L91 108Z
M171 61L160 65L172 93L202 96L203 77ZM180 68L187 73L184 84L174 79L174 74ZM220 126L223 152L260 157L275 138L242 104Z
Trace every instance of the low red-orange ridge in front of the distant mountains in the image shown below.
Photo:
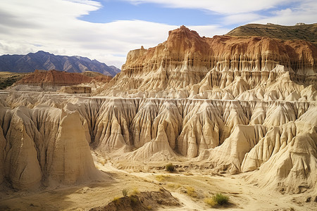
M25 75L16 84L48 84L48 85L73 85L92 82L109 82L111 77L106 75L98 75L89 77L81 73L61 72L57 70L35 70L31 74Z

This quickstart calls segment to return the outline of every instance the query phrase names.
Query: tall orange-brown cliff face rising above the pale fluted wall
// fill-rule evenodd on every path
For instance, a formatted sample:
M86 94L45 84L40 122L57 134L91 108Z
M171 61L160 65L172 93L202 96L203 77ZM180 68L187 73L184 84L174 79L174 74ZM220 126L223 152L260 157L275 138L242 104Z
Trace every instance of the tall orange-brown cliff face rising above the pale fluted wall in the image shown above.
M207 38L182 26L154 48L130 51L122 72L109 85L129 92L189 90L210 72L211 87L225 88L242 77L253 89L268 78L276 79L278 65L293 81L316 85L316 62L317 47L309 41L225 35Z

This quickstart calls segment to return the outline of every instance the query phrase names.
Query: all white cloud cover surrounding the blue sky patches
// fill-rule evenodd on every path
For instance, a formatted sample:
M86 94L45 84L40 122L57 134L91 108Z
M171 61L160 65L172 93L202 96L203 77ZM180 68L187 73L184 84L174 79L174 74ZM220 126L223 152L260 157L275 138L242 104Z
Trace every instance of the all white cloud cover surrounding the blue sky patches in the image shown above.
M311 0L303 0L296 7L273 11L269 17L264 18L254 11L273 8L285 1L125 1L135 4L152 2L170 7L230 13L223 15L224 25L249 22L277 23L277 20L280 24L294 25L298 22L312 23L317 20L316 2ZM88 0L0 1L0 54L25 54L43 50L60 55L87 56L120 68L128 51L140 46L156 46L167 39L169 30L179 27L142 20L89 23L78 19L99 8L99 2ZM229 31L220 25L187 27L206 37Z

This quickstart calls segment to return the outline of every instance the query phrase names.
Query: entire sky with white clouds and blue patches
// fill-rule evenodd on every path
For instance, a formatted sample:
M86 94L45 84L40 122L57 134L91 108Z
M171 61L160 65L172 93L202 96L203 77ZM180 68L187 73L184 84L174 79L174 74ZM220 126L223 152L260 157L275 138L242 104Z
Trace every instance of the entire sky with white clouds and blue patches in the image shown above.
M247 23L315 23L316 11L316 0L0 1L0 55L42 50L120 68L128 51L181 25L213 37Z

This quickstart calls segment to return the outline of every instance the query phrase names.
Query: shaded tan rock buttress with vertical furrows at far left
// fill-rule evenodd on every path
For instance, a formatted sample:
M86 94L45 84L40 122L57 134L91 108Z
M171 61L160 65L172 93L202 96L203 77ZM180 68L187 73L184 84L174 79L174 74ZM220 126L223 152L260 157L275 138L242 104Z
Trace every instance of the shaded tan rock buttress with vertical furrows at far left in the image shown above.
M98 178L87 121L77 111L1 107L0 129L0 182L32 189Z

